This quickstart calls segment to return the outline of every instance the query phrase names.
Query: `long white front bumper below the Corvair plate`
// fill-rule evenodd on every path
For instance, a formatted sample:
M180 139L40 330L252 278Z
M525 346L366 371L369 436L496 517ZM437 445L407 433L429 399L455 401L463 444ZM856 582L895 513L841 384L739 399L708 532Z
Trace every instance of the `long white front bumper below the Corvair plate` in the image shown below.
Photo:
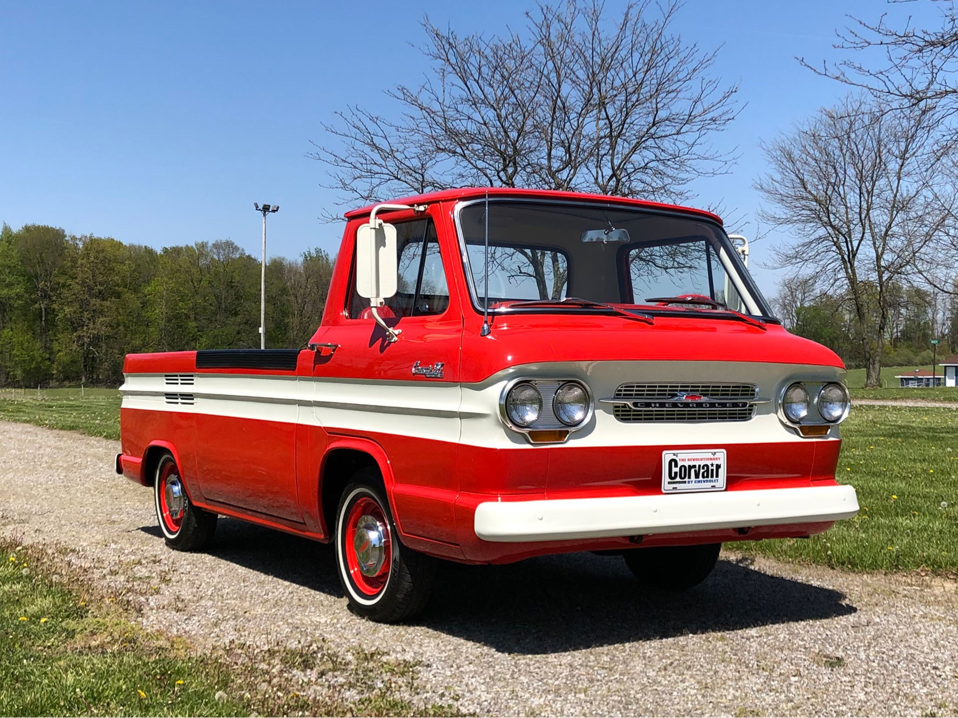
M608 536L813 524L858 512L851 486L486 502L476 507L476 536L519 543Z

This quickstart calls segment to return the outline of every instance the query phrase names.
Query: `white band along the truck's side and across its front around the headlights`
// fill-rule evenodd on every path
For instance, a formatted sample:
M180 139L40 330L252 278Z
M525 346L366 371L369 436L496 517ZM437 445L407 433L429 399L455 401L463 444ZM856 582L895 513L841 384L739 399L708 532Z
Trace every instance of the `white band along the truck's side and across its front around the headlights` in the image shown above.
M841 373L831 367L745 362L553 362L514 367L482 383L463 385L196 373L190 387L192 405L168 404L165 394L170 387L166 375L159 373L127 374L120 391L125 409L298 422L489 448L535 448L499 418L500 394L517 376L579 379L597 397L611 396L616 387L630 381L748 382L760 386L760 396L776 396L795 379L833 381ZM788 431L775 412L770 402L757 406L748 421L628 423L612 415L611 405L597 404L589 424L561 446L723 446L809 440ZM830 438L838 438L837 427Z

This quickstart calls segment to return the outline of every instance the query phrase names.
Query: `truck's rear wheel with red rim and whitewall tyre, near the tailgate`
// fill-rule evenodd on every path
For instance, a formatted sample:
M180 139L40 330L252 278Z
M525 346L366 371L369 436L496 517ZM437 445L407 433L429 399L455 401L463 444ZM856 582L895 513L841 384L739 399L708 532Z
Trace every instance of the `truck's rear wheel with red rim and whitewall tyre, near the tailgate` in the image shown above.
M204 511L190 501L172 454L156 464L153 481L156 520L167 546L181 551L199 550L210 543L217 530L217 514Z

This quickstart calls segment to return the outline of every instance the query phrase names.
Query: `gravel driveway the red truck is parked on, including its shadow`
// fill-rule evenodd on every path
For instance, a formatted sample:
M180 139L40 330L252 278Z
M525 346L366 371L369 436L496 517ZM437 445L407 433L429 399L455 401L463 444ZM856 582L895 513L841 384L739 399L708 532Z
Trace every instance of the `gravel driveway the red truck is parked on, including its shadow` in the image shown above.
M958 584L726 557L678 597L621 559L448 566L430 613L346 610L329 547L221 520L209 553L167 550L119 444L0 422L0 532L67 545L142 621L215 646L380 648L423 662L437 700L482 714L955 714ZM153 587L158 587L154 589Z

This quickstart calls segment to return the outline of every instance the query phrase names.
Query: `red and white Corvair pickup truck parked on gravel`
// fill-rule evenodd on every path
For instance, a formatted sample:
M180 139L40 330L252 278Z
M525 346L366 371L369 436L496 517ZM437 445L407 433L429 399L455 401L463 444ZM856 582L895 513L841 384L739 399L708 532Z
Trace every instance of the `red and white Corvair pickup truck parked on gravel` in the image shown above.
M116 467L171 548L220 515L334 542L353 610L397 621L436 559L614 552L677 590L723 542L855 515L842 362L718 216L461 189L346 219L306 348L126 357Z

